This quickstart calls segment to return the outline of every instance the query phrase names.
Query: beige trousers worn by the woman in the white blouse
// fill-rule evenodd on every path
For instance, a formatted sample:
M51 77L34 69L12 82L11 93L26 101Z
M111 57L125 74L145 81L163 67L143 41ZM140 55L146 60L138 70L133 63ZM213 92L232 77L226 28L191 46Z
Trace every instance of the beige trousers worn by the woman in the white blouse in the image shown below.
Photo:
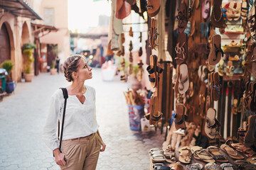
M60 168L68 170L96 169L100 147L101 140L97 132L75 140L63 140L62 152L65 154L67 164Z

